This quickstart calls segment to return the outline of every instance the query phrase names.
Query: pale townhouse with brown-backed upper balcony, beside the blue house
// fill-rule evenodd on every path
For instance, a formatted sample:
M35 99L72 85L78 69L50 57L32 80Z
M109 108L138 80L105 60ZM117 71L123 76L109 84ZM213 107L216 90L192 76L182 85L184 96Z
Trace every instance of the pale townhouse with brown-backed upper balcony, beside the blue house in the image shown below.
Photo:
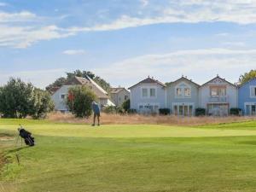
M238 88L225 79L216 77L199 89L199 106L207 109L207 114L225 116L230 108L238 106Z

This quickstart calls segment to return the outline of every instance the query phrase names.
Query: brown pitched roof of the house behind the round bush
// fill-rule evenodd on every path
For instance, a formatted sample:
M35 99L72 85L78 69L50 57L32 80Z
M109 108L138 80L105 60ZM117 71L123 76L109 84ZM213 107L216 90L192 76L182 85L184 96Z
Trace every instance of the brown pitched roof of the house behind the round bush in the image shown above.
M96 94L98 98L109 98L109 96L107 95L108 92L106 90L103 90L100 85L96 84L96 82L90 79L88 76L86 76L86 78L74 77L71 81L67 82L67 85L75 84L88 86Z

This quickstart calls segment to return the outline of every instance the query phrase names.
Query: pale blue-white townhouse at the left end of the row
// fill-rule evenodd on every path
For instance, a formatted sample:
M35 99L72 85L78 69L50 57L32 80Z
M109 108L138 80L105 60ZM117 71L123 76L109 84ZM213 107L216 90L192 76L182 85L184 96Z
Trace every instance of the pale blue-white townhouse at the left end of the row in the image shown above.
M154 78L143 79L131 86L131 108L138 113L159 113L166 108L166 84Z

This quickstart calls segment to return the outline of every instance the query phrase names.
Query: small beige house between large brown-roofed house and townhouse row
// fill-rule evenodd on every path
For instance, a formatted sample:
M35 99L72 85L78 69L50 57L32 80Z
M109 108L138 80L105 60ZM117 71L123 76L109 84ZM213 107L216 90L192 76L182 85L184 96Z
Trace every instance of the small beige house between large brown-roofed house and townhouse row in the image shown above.
M130 92L123 87L111 88L110 96L115 106L121 107L126 100L130 99Z

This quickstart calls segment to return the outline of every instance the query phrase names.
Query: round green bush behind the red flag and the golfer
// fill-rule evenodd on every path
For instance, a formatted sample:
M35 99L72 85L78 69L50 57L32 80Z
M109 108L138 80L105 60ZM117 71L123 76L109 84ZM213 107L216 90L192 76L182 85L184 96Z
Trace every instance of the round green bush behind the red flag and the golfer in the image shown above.
M71 87L68 90L68 98L67 106L77 117L83 118L91 115L91 102L96 101L96 95L89 88L84 85Z

